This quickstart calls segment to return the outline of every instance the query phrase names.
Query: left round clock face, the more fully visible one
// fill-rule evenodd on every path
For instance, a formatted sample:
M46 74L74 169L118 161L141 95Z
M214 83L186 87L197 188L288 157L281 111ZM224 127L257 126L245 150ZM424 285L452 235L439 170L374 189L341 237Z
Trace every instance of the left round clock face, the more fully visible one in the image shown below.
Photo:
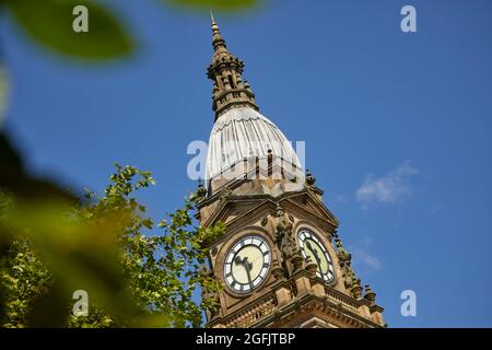
M271 250L260 236L246 236L229 250L224 262L224 280L236 293L249 293L267 278Z

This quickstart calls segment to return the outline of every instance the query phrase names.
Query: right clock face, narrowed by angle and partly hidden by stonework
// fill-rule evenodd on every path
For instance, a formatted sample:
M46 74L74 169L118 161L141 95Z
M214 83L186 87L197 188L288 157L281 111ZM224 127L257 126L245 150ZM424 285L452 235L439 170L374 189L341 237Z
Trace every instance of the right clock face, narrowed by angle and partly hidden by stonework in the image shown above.
M305 259L309 257L311 261L318 266L316 275L325 281L332 281L335 277L333 264L321 241L311 231L301 230L297 234L297 242L303 257Z

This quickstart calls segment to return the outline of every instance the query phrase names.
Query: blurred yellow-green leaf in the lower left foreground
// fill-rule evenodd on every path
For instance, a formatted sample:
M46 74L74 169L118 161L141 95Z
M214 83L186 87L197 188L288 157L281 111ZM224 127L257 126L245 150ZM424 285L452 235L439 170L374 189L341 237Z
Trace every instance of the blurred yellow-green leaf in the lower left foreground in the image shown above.
M104 305L128 326L164 324L165 315L151 315L136 305L124 282L116 236L127 213L87 224L69 218L70 208L63 202L17 201L0 221L7 231L28 237L54 276L49 292L35 301L28 325L66 325L67 305L80 289L87 292L90 304Z

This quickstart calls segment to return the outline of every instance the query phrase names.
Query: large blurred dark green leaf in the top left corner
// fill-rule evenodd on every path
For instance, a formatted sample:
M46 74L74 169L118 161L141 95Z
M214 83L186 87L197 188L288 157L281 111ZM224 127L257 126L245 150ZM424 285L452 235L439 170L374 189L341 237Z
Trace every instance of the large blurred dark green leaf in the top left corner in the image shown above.
M73 8L89 9L89 32L72 28ZM7 7L24 31L45 47L68 56L106 60L130 54L133 44L122 24L92 0L10 0Z

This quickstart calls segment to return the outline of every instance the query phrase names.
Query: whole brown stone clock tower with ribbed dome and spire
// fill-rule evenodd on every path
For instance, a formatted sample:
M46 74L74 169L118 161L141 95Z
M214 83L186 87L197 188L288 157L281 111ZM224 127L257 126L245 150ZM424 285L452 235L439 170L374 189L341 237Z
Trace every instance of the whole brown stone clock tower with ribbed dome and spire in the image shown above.
M302 170L285 136L259 113L212 18L215 121L199 220L225 223L208 245L210 271L223 284L212 295L211 327L383 327L383 308L363 288L343 248L338 220L314 176Z

